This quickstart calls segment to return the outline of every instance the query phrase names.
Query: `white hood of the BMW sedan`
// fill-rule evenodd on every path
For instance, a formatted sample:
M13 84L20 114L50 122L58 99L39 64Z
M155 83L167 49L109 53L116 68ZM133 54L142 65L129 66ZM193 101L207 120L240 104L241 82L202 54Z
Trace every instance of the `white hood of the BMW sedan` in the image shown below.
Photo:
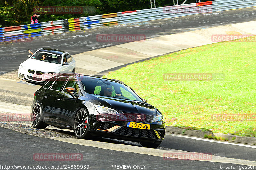
M58 70L57 68L60 66L60 64L49 63L31 58L24 61L20 65L22 65L25 69L37 70L42 72L55 72L55 70Z

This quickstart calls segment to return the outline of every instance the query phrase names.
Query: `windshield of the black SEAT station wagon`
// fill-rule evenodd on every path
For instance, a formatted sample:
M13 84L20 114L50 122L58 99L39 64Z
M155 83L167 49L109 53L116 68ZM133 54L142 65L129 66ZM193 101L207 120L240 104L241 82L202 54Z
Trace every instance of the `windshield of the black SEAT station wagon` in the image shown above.
M140 97L126 85L107 80L81 78L86 93L141 101Z

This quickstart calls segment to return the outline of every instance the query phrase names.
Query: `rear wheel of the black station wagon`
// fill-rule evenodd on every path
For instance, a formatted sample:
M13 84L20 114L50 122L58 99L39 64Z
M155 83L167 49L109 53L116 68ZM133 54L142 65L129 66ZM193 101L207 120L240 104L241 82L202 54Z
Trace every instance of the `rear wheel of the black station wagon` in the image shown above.
M47 124L43 122L43 110L40 102L36 102L31 113L31 123L33 128L45 129Z

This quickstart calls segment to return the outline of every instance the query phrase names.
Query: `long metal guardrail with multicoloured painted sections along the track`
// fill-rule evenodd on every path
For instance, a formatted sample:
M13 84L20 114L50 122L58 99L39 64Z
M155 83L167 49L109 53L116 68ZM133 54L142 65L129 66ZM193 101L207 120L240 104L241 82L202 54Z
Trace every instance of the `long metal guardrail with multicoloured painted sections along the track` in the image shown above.
M256 0L215 0L0 28L0 42L54 33L256 6Z

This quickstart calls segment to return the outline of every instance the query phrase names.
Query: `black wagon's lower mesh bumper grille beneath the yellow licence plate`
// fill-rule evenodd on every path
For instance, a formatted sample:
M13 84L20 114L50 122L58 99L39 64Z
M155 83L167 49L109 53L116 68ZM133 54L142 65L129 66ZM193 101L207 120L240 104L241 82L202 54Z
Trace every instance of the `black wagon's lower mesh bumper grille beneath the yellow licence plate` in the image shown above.
M121 134L121 135L137 136L137 137L148 137L148 138L155 138L155 139L158 138L154 130L128 128L126 126L123 126L122 128L116 130L116 132L114 133Z

